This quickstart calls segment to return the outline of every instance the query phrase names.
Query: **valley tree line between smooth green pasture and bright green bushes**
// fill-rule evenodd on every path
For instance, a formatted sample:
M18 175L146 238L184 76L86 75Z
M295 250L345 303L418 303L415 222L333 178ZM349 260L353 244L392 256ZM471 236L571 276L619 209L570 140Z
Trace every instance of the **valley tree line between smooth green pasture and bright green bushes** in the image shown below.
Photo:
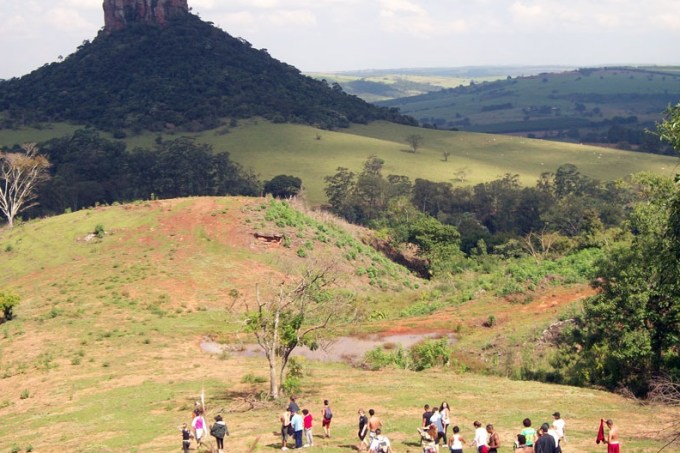
M421 215L455 228L460 249L470 254L484 243L493 252L513 238L554 232L587 246L598 232L620 225L636 198L634 185L601 182L564 164L524 187L505 174L474 186L454 186L408 176L384 176L384 160L369 156L359 173L338 168L325 178L328 207L367 226L401 228ZM401 211L401 214L399 213ZM405 211L410 211L410 218Z

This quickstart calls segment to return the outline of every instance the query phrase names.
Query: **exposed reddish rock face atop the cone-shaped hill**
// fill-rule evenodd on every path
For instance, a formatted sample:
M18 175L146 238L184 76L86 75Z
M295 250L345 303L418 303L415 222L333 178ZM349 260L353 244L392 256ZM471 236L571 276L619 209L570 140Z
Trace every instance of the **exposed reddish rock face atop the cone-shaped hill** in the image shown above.
M188 14L188 0L104 0L104 30L112 32L128 24L165 25L168 19Z

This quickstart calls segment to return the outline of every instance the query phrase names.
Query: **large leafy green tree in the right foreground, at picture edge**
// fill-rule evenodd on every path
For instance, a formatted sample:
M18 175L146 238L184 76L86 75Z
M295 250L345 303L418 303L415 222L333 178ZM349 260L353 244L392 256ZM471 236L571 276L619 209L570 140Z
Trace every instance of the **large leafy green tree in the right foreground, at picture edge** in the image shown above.
M675 107L660 127L674 145L680 143L678 121ZM640 181L648 201L631 216L632 242L600 261L602 291L564 335L555 365L569 383L646 394L659 375L680 377L679 179Z

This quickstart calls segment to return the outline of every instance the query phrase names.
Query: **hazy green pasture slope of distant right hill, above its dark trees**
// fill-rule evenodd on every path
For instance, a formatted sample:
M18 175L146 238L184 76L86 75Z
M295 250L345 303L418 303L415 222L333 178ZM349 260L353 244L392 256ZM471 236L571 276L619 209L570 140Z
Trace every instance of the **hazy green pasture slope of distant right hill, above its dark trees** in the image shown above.
M575 116L601 121L614 116L637 116L640 122L660 119L669 100L680 99L680 77L673 68L638 70L603 68L592 72L563 72L515 78L489 84L477 84L463 91L433 92L421 96L386 101L416 118L445 118L455 121L467 117L473 126L506 122L525 122L524 130L539 130L532 121ZM677 68L676 68L677 69ZM673 95L676 98L673 98ZM576 103L587 111L599 108L601 115L585 116ZM511 108L484 110L484 107L512 104ZM528 113L523 108L549 106L552 112ZM466 128L467 126L462 126ZM571 126L562 126L562 129Z

